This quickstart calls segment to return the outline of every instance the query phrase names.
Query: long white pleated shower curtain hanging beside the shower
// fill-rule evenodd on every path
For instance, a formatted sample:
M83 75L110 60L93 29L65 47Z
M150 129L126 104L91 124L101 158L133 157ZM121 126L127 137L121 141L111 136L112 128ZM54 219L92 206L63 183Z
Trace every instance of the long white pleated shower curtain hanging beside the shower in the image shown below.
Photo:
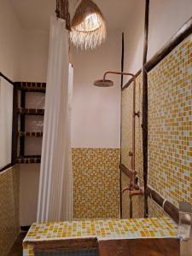
M70 134L73 67L68 61L65 27L65 20L51 18L38 222L73 218Z

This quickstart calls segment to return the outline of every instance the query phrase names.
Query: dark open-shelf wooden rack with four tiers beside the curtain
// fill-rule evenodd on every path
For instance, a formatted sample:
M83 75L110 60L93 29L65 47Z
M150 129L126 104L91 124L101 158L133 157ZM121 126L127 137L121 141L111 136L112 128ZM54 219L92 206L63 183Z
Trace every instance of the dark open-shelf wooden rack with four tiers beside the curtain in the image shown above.
M27 108L26 101L26 92L37 92L37 94L31 95L32 97L38 96L39 93L46 92L46 83L33 83L33 82L16 82L15 84L15 108L14 108L14 117L15 117L15 151L14 151L14 162L18 164L39 164L41 162L41 155L26 155L25 146L26 146L26 137L38 137L42 139L43 131L36 131L37 128L31 128L27 131L26 128L26 115L32 116L42 116L44 119L44 108L38 107L34 103L34 108ZM39 95L44 97L44 95ZM19 108L18 108L19 107ZM41 108L41 109L39 109ZM31 121L28 120L27 121ZM29 125L29 124L28 124ZM19 128L18 128L19 127ZM18 131L19 130L19 131ZM30 131L31 130L31 131ZM32 131L33 130L33 131ZM40 130L40 129L39 129ZM19 142L19 145L18 145ZM34 141L34 143L36 140ZM28 139L27 139L27 143ZM37 141L38 143L38 141ZM19 147L18 147L19 146ZM19 156L18 150L19 148ZM38 152L37 152L38 153Z

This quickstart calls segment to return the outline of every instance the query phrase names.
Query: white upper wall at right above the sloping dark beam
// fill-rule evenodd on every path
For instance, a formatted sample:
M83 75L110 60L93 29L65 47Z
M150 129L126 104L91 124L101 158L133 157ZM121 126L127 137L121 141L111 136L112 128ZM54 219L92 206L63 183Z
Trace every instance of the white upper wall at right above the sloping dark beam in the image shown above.
M135 0L125 24L125 71L137 73L143 61L145 1ZM148 26L148 60L192 16L192 0L151 0ZM125 80L127 81L127 79Z

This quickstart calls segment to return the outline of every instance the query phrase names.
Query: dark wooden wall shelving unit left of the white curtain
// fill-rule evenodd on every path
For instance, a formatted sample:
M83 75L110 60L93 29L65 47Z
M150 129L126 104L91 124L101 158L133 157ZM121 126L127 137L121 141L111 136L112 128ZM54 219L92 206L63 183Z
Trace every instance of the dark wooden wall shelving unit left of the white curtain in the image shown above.
M25 154L25 139L26 137L43 137L43 131L26 131L26 115L44 116L44 109L26 108L26 93L28 92L46 92L45 83L32 82L16 82L17 99L19 99L20 91L20 108L17 100L16 117L17 117L17 142L20 143L19 156L16 162L20 164L33 164L41 162L41 155L26 155ZM20 122L19 122L20 121ZM20 125L19 125L20 124ZM35 129L36 130L36 129ZM18 153L17 153L18 155Z

